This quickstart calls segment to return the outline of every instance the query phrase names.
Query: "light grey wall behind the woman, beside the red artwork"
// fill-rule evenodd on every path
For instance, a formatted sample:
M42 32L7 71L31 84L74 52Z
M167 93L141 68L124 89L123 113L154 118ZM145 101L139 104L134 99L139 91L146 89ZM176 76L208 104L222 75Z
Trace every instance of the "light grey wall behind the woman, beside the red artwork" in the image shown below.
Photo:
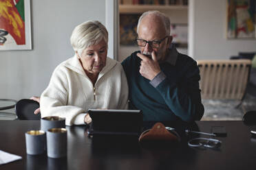
M70 36L76 25L105 25L105 1L31 1L32 50L0 51L0 98L41 95L54 68L74 55Z

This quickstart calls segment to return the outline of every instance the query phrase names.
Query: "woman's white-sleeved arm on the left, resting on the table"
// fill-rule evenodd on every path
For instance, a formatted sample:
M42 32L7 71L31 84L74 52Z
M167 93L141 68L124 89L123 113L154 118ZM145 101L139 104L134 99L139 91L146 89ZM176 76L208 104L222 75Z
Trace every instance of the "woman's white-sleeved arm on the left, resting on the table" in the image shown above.
M47 88L41 95L41 117L58 116L66 119L66 125L85 124L85 110L78 106L67 106L69 93L65 71L56 69Z

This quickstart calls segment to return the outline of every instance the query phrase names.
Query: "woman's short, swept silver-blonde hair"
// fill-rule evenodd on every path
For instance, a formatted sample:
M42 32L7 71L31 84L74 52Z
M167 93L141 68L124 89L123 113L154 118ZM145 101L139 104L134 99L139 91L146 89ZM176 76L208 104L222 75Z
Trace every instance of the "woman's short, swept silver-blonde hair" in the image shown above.
M99 21L87 21L77 25L70 37L71 45L79 55L84 49L98 44L101 40L108 42L108 32L106 27Z

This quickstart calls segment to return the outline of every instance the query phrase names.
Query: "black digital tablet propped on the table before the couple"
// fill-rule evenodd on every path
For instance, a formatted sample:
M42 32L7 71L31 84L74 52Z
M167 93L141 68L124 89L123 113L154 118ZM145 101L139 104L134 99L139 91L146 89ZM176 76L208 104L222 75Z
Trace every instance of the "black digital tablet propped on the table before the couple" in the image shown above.
M141 110L89 109L92 123L88 134L140 135L143 123Z

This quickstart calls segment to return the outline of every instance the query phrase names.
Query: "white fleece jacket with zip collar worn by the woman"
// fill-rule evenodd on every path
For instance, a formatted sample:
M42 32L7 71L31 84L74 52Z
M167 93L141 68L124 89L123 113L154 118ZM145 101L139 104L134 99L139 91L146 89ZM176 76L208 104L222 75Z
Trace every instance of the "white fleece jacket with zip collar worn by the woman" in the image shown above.
M107 58L93 86L75 55L52 73L50 84L41 95L40 108L41 117L65 117L66 125L85 124L89 108L127 109L125 71L119 62Z

